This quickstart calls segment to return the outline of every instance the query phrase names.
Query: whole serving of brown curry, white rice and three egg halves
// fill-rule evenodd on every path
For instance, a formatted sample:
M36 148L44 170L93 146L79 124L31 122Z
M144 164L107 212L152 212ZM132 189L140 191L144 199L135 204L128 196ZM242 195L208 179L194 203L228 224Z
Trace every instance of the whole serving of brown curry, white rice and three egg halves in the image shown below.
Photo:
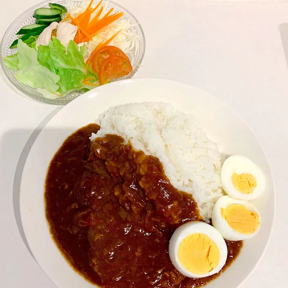
M259 231L247 200L263 193L262 171L238 155L222 166L217 145L170 104L113 107L97 123L68 137L47 173L46 217L67 260L109 288L217 277Z

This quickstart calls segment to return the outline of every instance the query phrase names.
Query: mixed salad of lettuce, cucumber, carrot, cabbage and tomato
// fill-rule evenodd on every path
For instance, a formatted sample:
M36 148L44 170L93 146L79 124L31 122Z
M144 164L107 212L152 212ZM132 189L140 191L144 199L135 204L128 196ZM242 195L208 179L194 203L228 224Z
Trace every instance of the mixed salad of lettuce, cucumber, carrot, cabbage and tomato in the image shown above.
M108 10L108 1L102 1L70 2L68 7L49 3L49 8L36 9L35 24L16 33L10 49L18 51L3 57L5 65L15 70L19 82L50 99L128 75L137 37L124 13Z

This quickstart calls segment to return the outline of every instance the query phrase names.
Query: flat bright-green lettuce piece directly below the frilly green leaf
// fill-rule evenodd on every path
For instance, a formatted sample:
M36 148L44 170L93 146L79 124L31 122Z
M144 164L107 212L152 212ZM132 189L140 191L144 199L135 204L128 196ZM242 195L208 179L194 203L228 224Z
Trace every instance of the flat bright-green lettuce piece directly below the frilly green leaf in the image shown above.
M84 73L77 69L59 68L58 74L60 78L58 85L60 86L60 94L66 93L71 89L80 89L84 79Z

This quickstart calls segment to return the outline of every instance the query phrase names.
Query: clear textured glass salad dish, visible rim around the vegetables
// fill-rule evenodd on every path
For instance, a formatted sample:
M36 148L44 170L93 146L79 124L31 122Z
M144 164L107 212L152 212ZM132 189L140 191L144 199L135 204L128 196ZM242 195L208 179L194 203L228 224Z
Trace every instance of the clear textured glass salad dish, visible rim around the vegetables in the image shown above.
M38 91L36 91L36 89L31 88L27 85L24 85L22 83L20 83L15 77L15 71L10 70L9 68L7 68L4 64L4 61L2 59L2 57L8 56L8 55L12 55L15 54L17 52L17 49L9 49L10 45L12 44L12 42L17 39L16 37L16 33L19 31L19 29L22 26L25 25L29 25L29 24L33 24L35 23L35 18L32 17L34 11L38 8L41 7L49 7L48 3L49 2L53 2L53 3L58 3L61 4L63 6L66 6L66 1L65 0L49 0L49 1L44 1L41 2L33 7L31 7L30 9L26 10L24 13L22 13L19 17L17 17L12 24L8 27L8 29L6 30L2 40L1 40L1 44L0 44L0 52L1 52L1 59L0 59L0 63L1 63L1 67L3 69L3 72L5 74L5 76L7 77L7 79L10 81L10 83L20 92L19 94L23 93L27 96L29 96L30 98L33 98L36 101L39 102L43 102L43 103L47 103L47 104L54 104L54 105L66 105L67 103L69 103L70 101L72 101L73 99L75 99L76 97L78 97L79 95L83 94L84 92L82 91L74 91L69 93L66 96L62 96L59 97L57 99L47 99L45 98L42 94L40 94ZM73 6L82 4L83 1L77 1L77 0L71 0L71 3ZM95 0L93 2L93 4L98 4L99 0ZM128 18L131 26L130 26L130 31L134 33L134 35L136 35L137 40L138 40L138 49L137 49L137 53L136 55L134 55L134 59L132 61L132 67L133 67L133 72L130 73L127 76L123 76L121 78L119 78L118 80L123 80L123 79L129 79L131 78L136 71L138 70L143 57L144 57L144 52L145 52L145 36L144 36L144 32L143 29L140 25L140 23L138 22L138 20L124 7L122 7L121 5L109 1L107 8L110 9L114 7L114 12L118 12L118 11L123 11L125 13L125 15L123 17L126 17L126 19ZM134 50L132 50L132 52L135 52L135 47ZM128 53L127 56L131 59L131 55ZM97 89L97 88L95 88Z

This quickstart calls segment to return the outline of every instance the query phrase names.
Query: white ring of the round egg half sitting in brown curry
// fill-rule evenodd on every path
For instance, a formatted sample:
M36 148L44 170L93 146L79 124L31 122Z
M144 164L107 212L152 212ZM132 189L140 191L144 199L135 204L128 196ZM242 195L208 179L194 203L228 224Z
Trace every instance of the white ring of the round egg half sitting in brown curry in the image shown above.
M194 233L206 234L208 237L210 237L214 241L214 243L216 244L220 252L220 261L217 267L213 269L212 271L203 275L193 274L190 271L188 271L186 268L184 268L181 265L179 258L178 258L178 249L179 249L179 245L181 241L186 236L194 234ZM169 242L169 256L173 265L180 273L190 278L202 278L202 277L213 275L219 272L223 268L227 259L227 246L221 234L213 226L205 222L191 221L191 222L188 222L179 226L174 231Z

